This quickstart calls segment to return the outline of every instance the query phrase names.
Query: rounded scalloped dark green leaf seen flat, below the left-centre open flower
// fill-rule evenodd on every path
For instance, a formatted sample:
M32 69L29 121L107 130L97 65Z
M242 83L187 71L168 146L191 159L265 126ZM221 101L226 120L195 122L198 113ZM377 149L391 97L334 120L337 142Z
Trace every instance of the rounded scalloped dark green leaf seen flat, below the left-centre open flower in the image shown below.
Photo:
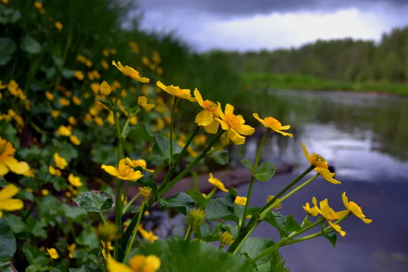
M106 212L115 207L112 195L102 191L84 192L72 200L87 212Z

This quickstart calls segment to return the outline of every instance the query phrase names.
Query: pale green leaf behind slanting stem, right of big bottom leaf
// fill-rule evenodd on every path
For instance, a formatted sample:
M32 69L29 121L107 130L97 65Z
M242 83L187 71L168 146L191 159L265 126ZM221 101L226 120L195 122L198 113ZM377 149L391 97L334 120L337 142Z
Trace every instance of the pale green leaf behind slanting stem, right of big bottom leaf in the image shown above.
M264 250L270 248L275 243L267 238L249 237L239 249L240 254L248 254L249 258L253 259ZM258 270L261 272L269 271L269 258L262 258L257 263Z

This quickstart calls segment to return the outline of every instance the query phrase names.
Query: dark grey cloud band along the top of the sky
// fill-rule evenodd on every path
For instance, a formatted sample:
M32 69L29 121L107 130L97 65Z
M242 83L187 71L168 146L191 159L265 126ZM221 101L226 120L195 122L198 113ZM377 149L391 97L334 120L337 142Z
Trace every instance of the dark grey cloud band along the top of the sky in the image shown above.
M271 12L333 11L356 7L370 9L373 4L393 8L408 6L408 0L140 0L146 11L194 10L218 16L235 17Z

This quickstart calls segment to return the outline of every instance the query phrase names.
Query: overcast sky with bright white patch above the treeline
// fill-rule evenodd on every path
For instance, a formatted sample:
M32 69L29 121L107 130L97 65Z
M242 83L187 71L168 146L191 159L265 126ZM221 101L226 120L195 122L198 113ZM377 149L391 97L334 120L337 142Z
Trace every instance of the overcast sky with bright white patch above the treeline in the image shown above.
M143 28L175 31L197 51L260 50L316 39L379 40L408 24L408 0L139 0Z

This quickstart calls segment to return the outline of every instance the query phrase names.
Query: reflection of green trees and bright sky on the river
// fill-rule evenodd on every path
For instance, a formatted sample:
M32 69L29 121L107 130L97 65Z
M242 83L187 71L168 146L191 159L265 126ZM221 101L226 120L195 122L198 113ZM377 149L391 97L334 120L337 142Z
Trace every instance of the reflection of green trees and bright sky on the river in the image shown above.
M322 154L340 176L367 181L404 179L408 169L408 100L379 95L274 91L259 93L242 110L275 116L291 125L293 138L267 140L262 160L294 162L308 166L301 150ZM258 126L259 123L251 122ZM262 128L260 128L262 129ZM262 133L233 151L254 159ZM240 156L232 156L239 158ZM233 161L232 166L239 162Z

